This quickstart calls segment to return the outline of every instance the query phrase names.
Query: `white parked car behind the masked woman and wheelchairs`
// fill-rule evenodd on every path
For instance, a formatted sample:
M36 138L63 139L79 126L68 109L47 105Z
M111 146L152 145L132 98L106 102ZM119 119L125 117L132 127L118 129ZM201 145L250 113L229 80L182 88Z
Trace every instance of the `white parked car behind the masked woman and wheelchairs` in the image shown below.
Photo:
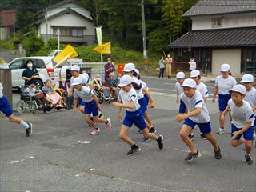
M54 67L56 63L52 61L53 57L26 57L15 58L9 64L0 65L0 69L10 69L12 74L12 84L14 88L21 88L24 86L24 80L22 79L22 72L26 69L26 61L32 60L34 66L36 66L39 74L38 83L40 86L47 79L50 79L53 84L59 81L62 75L67 75L66 71L70 69L68 62L63 62L60 66ZM69 75L69 74L68 74Z

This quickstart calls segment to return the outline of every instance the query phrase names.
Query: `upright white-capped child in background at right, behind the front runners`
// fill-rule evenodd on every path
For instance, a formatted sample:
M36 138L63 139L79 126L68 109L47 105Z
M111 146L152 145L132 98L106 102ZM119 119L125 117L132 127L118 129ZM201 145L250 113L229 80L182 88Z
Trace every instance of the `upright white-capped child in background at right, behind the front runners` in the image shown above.
M220 117L222 116L223 111L226 109L227 102L231 98L229 90L231 90L237 84L237 81L230 76L229 64L223 64L220 72L222 75L219 75L215 80L213 102L215 102L216 95L218 94L219 129L217 134L224 134L224 122L222 122Z

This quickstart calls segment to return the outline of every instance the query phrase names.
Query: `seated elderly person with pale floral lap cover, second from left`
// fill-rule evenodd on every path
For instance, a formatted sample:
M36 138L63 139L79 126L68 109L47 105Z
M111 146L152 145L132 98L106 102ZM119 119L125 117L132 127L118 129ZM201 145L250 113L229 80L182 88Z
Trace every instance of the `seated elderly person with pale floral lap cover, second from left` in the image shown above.
M46 100L52 104L52 106L56 108L63 108L62 97L54 92L51 81L46 80L45 86L42 87L42 92L46 94Z

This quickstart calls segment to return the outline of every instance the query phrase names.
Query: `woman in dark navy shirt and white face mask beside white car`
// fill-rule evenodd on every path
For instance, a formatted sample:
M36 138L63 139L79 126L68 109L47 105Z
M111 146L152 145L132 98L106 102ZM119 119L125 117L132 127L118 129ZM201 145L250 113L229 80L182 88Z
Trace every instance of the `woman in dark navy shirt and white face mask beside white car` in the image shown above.
M30 86L31 84L36 84L38 82L38 70L33 67L33 62L28 60L26 62L26 70L23 70L22 79L25 80L25 86Z

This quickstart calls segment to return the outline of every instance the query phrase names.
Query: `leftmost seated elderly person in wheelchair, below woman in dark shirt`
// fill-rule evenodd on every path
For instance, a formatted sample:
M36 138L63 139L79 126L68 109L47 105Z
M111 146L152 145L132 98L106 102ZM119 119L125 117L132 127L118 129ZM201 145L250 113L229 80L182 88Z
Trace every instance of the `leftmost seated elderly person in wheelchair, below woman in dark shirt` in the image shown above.
M47 101L45 95L42 93L41 90L37 92L37 86L32 83L30 86L26 87L23 90L23 93L26 96L30 96L30 98L34 99L37 102L38 110L46 110Z

